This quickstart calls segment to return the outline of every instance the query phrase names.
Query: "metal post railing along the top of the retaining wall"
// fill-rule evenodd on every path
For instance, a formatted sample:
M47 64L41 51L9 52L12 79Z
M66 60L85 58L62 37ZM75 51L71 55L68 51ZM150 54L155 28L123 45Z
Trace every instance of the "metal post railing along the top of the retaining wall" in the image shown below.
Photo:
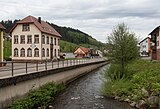
M94 59L76 59L76 60L63 60L63 61L46 60L43 63L39 63L38 61L35 63L13 62L13 61L0 62L0 64L6 64L6 66L0 67L0 79L39 72L39 71L47 71L56 68L63 68L79 64L103 61L103 60L104 59L102 58L94 58Z

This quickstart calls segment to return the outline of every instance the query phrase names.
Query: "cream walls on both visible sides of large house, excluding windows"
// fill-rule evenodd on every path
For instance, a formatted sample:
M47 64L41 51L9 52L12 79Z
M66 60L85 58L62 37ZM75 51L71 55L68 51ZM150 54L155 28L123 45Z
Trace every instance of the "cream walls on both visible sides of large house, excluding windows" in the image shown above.
M18 44L14 44L14 35L18 35ZM20 44L20 35L25 35L25 44ZM27 44L27 35L32 35L32 44ZM34 44L34 35L39 35L39 44ZM45 35L45 44L42 44L42 35ZM49 36L49 44L47 44L47 36ZM52 36L48 34L42 34L41 31L34 25L30 24L30 31L22 31L22 24L17 25L17 27L12 32L12 59L13 60L44 60L50 59L50 44L51 44L51 37L53 37L53 57L55 56L55 49L56 49L56 56L58 57L58 50L60 49L58 45L58 39L60 37ZM54 44L54 38L56 38L57 45ZM35 47L31 47L31 45L35 45ZM34 57L34 49L39 49L39 57ZM18 49L18 57L14 57L14 49ZM25 49L25 57L20 57L20 49ZM27 57L27 49L32 49L32 57ZM45 57L42 57L42 48L45 49ZM47 57L47 48L49 48L49 57Z

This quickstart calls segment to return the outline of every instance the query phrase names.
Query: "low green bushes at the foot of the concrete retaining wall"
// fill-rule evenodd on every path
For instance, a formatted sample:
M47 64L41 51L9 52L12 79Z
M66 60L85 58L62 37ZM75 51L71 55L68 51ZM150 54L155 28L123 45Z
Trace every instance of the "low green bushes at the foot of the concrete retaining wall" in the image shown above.
M39 89L31 90L26 97L15 101L8 109L37 109L46 108L54 100L57 92L65 89L64 84L48 83Z

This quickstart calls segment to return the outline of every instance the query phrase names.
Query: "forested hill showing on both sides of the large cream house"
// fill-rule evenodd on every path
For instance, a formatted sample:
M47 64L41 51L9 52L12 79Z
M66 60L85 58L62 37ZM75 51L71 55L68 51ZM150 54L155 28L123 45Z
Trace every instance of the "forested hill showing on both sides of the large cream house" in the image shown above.
M8 20L8 21L1 21L2 25L4 25L4 27L7 29L6 32L9 32L10 29L13 27L13 25L19 20ZM70 27L61 27L58 25L55 25L53 23L49 23L53 28L56 29L56 31L58 31L61 35L62 35L62 40L61 43L62 45L64 45L64 42L70 42L75 44L75 47L71 47L68 48L67 45L66 47L62 46L61 50L62 51L74 51L74 49L80 45L85 46L85 47L91 47L91 48L95 48L95 49L103 49L104 44L97 41L96 39L92 38L90 35L78 30L78 29L73 29ZM72 45L73 45L72 44Z

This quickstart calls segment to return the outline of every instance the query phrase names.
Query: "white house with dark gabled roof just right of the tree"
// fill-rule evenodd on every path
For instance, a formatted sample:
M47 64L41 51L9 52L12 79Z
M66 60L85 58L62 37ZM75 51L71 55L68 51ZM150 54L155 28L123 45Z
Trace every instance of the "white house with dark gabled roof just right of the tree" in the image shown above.
M139 42L139 52L140 56L150 56L150 38L146 37L142 41Z

